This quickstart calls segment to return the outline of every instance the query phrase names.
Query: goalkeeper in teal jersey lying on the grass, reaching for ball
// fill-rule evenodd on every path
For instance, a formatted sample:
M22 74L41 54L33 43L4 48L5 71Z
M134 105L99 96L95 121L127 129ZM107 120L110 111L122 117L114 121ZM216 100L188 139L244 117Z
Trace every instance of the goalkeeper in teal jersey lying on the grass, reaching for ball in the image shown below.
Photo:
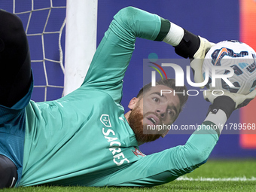
M144 134L143 127L172 124L187 101L181 94L161 96L160 90L186 87L175 87L172 79L147 85L131 99L126 114L120 101L137 37L165 41L192 59L204 58L209 41L155 14L123 8L105 32L82 86L56 101L35 103L30 101L33 80L22 23L5 11L0 17L1 187L154 186L206 163L221 130L199 130L185 145L157 154L139 151L139 145L168 131ZM201 66L192 60L197 82L203 80ZM203 124L225 123L254 96L206 95L212 105Z

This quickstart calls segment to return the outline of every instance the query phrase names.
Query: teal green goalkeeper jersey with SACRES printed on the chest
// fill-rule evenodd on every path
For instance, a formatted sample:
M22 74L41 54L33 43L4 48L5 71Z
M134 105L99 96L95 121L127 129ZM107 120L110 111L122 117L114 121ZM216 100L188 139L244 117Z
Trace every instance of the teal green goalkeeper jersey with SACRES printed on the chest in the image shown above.
M214 130L145 156L124 117L123 76L136 37L156 40L161 23L157 15L136 8L119 11L84 84L56 101L29 103L19 186L153 186L191 172L209 157L218 141Z

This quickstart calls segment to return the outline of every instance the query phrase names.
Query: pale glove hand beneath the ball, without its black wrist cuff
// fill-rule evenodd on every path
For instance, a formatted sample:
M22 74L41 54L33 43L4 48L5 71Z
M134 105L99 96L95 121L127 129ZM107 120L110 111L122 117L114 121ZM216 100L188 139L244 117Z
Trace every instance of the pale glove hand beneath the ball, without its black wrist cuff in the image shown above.
M215 91L214 95L212 94L211 91L205 91L206 93L204 93L203 97L204 99L206 99L206 101L208 102L214 102L216 98L218 98L219 96L228 96L230 97L233 102L235 102L235 108L242 108L245 105L248 105L249 102L251 102L252 99L254 99L254 97L256 96L256 90L251 91L251 93L248 93L247 95L242 95L242 94L238 94L238 93L224 93L223 95L221 95L223 92L221 91Z

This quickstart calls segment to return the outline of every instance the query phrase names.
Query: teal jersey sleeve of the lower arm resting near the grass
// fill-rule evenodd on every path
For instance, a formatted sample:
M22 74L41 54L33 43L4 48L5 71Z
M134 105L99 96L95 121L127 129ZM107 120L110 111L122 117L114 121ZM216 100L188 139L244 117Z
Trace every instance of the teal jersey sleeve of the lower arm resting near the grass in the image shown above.
M185 145L148 155L114 173L108 185L152 187L173 181L206 163L217 142L218 133L215 130L201 127Z

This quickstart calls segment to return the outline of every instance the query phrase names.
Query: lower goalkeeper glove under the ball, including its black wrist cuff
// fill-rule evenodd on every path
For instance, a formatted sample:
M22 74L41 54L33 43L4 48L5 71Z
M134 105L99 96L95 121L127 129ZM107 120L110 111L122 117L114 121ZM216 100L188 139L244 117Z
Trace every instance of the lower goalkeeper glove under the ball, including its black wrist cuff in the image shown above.
M211 91L206 91L206 93L203 95L206 101L212 102L212 105L209 107L209 111L215 114L217 113L218 109L221 109L226 113L227 118L230 117L230 114L232 114L235 109L248 105L248 103L251 102L255 96L256 90L251 91L251 93L248 93L247 95L238 93L223 94L221 91L215 91L214 95Z

